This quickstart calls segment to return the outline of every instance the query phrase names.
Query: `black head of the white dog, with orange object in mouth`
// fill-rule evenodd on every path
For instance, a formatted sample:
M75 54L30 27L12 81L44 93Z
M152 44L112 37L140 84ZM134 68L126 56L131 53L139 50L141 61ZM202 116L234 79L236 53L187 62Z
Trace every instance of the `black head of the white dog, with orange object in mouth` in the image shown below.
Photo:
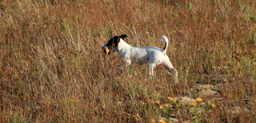
M120 36L114 36L114 38L110 38L109 42L105 46L102 46L102 49L105 54L113 54L118 50L118 43L120 42L120 38L126 38L126 34L122 34Z

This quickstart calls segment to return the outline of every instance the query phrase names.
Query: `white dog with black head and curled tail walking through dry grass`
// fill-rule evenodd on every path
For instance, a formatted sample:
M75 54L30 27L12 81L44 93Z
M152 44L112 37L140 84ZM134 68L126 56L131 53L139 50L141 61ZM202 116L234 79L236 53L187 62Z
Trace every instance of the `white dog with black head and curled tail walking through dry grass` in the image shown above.
M105 54L114 54L118 51L122 61L126 65L130 65L130 77L131 77L131 66L132 63L138 62L139 65L147 63L149 70L149 77L154 76L154 67L156 65L163 64L166 69L174 73L174 83L178 83L178 71L174 69L174 66L170 63L170 58L167 56L167 47L168 47L168 38L162 36L160 41L163 39L166 42L166 46L163 49L157 47L133 47L124 41L127 38L126 34L120 36L114 36L110 38L105 46L102 46L102 49ZM119 70L122 73L122 65L119 65Z

